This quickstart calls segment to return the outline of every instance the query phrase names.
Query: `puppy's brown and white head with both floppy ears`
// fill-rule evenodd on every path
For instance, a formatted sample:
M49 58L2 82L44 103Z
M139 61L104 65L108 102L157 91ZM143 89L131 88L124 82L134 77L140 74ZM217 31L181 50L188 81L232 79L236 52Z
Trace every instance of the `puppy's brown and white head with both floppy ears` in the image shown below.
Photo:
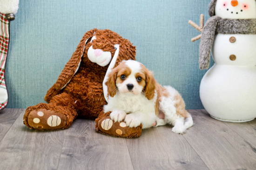
M114 97L118 90L123 94L144 94L148 100L155 95L156 81L151 71L134 60L121 62L108 75L108 95Z

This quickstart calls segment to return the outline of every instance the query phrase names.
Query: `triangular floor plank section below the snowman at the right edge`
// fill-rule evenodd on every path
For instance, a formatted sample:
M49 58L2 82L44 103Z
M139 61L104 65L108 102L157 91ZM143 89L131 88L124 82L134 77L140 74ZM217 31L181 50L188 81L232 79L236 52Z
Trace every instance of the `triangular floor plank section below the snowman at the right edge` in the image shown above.
M243 122L243 123L233 123L233 122L224 122L229 126L233 131L245 139L252 147L256 148L256 119ZM256 149L255 149L256 151Z

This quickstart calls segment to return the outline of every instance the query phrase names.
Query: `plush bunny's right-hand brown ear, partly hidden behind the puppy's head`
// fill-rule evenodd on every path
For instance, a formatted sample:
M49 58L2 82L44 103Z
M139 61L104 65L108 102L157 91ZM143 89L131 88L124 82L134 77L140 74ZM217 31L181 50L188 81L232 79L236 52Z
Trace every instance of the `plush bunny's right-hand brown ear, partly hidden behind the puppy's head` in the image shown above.
M128 39L122 39L119 44L119 54L116 59L115 67L123 60L135 60L136 47Z

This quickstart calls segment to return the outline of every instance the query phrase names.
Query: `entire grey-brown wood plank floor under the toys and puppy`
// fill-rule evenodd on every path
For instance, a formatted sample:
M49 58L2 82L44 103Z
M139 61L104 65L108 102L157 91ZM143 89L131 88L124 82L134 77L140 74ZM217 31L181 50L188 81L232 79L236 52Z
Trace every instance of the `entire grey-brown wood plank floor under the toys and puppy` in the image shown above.
M93 120L75 120L60 131L23 125L24 109L0 112L1 170L256 170L256 120L229 123L189 110L186 134L171 126L122 139L95 131Z

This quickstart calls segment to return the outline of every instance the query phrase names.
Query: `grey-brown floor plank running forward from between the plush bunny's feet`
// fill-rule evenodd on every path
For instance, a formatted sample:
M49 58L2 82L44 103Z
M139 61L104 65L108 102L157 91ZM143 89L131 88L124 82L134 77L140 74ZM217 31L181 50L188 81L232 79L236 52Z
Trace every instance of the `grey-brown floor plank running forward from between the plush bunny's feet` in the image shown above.
M133 170L125 139L95 130L94 120L75 120L65 136L58 170Z

